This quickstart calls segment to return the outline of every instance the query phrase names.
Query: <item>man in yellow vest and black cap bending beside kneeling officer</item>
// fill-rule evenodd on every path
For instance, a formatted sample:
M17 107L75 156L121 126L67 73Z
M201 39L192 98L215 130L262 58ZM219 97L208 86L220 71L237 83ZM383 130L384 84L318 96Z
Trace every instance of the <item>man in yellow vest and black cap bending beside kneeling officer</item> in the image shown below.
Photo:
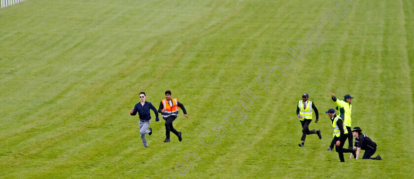
M333 108L328 109L325 113L328 113L328 116L331 119L332 128L334 128L335 150L338 152L341 162L345 162L344 153L349 152L355 156L355 150L353 148L343 148L345 141L348 138L348 131L346 130L344 121L340 116L335 114L335 109Z

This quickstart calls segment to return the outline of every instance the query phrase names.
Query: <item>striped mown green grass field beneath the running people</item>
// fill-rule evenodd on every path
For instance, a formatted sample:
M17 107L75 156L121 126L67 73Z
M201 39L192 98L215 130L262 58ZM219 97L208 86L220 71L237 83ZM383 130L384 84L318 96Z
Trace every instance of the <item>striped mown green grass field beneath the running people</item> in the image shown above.
M414 175L414 2L352 0L27 0L0 9L0 178L412 178ZM316 25L328 12L340 21ZM315 28L324 37L308 53L298 41ZM313 34L314 36L315 34ZM285 75L286 48L303 55ZM302 43L302 47L306 47ZM293 57L292 55L290 55ZM263 81L265 78L261 78ZM259 99L254 101L247 87ZM142 146L139 91L155 107L164 92L184 104L163 143L155 122ZM244 92L255 106L236 98ZM299 147L296 105L302 93L319 109L322 140ZM352 101L352 127L378 143L382 161L327 151L335 107ZM245 104L249 105L246 101ZM238 105L247 119L231 116ZM228 132L211 147L213 127ZM347 146L347 144L345 144ZM194 166L183 158L190 151ZM362 153L360 158L362 158ZM186 166L178 175L179 162Z

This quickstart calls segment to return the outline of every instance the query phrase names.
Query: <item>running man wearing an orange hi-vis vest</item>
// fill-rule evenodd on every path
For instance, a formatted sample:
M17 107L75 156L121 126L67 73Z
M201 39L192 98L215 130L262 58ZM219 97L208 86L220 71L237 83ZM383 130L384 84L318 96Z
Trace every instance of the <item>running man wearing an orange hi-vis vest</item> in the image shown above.
M173 127L173 121L175 118L178 117L178 109L182 108L182 112L184 116L188 118L187 111L180 102L177 101L176 98L171 99L171 91L167 90L165 92L165 100L162 100L160 103L160 107L158 108L158 112L161 113L165 120L165 140L164 143L170 142L170 131L173 132L178 137L178 141L181 142L182 136L181 131L177 131Z

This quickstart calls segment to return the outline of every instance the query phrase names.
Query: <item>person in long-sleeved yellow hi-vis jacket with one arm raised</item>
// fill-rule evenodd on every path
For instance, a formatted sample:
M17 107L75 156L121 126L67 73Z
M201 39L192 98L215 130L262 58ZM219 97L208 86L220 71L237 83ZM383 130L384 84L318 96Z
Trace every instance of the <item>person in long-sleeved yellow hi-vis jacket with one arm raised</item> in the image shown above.
M339 116L344 120L344 124L346 126L346 130L348 131L349 134L351 134L351 112L352 112L352 105L351 105L351 101L352 101L352 96L351 95L345 95L344 96L344 100L338 100L335 97L334 93L331 93L332 96L332 101L335 102L335 104L337 105L337 110L339 111ZM348 148L352 148L353 143L352 143L352 135L348 135ZM331 142L331 145L327 148L327 150L332 150L334 148L334 141Z

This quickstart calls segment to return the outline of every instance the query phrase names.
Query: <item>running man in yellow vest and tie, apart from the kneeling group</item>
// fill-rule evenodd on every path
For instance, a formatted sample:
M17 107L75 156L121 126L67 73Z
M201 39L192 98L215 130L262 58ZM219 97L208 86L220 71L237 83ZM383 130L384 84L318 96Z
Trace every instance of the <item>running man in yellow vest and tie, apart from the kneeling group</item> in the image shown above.
M320 134L320 130L317 131L309 130L309 124L311 124L312 121L312 109L315 111L316 120L315 123L319 120L319 113L318 109L315 107L313 102L309 101L309 95L308 93L304 93L302 95L302 100L298 102L297 108L296 108L296 114L299 117L299 120L302 124L302 143L299 143L299 146L303 146L305 144L306 135L310 134L317 134L319 139L322 139L322 135Z

